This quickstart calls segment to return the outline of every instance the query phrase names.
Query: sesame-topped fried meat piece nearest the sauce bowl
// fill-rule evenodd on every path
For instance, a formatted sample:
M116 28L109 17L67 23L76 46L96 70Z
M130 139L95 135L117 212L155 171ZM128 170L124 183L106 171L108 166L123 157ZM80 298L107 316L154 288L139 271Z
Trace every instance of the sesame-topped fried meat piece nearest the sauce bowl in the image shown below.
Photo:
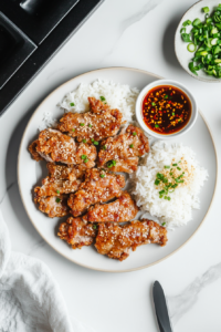
M113 172L133 173L137 169L138 157L148 152L148 138L140 128L129 125L125 133L102 142L98 166L106 166Z

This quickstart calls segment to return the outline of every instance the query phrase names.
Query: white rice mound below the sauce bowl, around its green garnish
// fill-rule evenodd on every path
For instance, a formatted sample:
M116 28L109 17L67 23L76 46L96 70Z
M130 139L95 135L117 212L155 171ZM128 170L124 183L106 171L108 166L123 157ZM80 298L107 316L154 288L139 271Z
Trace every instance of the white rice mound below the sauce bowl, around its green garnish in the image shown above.
M186 160L187 181L169 194L170 200L159 198L159 188L155 185L157 173L162 173L164 166L178 163L181 158ZM192 208L200 208L199 193L208 176L190 147L158 141L143 158L137 172L130 175L130 191L143 211L149 211L160 222L166 222L167 228L173 229L192 219Z

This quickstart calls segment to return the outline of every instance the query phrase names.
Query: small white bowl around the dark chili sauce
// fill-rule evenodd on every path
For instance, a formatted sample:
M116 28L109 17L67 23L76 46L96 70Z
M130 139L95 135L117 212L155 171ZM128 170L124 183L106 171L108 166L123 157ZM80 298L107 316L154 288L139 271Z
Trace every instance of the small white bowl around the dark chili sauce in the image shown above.
M170 85L170 86L175 86L178 87L179 90L183 91L183 93L187 94L187 96L190 100L191 106L192 106L192 112L191 112L191 117L189 120L189 122L187 123L187 125L179 132L173 133L173 134L158 134L154 131L151 131L150 128L147 127L147 125L144 122L144 117L143 117L143 102L145 96L147 95L148 91L150 91L152 87L156 86L160 86L160 85ZM170 138L175 138L178 137L185 133L187 133L196 123L197 121L197 116L198 116L198 106L197 106L197 101L194 98L194 96L191 94L191 92L182 84L180 84L177 81L172 81L172 80L158 80L155 81L148 85L146 85L141 92L139 93L138 97L137 97L137 102L136 102L136 117L137 117L137 122L139 123L139 125L141 126L141 128L150 136L156 137L158 139L170 139Z

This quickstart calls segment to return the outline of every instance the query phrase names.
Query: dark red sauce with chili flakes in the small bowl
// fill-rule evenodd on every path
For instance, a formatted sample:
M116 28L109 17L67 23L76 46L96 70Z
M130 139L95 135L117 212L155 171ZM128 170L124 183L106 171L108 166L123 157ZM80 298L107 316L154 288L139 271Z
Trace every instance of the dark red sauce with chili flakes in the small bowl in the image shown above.
M189 97L176 86L159 85L151 89L143 102L144 122L158 134L181 131L191 117Z

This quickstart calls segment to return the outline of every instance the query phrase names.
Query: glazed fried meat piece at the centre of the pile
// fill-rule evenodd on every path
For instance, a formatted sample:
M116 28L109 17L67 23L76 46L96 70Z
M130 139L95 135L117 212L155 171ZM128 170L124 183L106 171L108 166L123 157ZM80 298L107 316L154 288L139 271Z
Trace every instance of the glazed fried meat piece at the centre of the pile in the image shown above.
M91 205L104 203L122 195L125 177L97 168L87 169L85 180L75 194L71 194L69 206L74 217L85 212Z

